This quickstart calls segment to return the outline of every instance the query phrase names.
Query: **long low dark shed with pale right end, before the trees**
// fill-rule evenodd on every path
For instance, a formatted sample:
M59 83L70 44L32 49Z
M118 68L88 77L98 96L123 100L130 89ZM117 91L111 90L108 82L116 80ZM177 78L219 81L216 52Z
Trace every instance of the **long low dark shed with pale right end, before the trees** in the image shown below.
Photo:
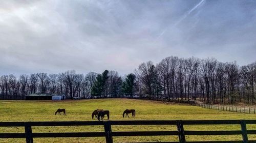
M28 94L25 100L63 100L66 99L65 95L56 94Z

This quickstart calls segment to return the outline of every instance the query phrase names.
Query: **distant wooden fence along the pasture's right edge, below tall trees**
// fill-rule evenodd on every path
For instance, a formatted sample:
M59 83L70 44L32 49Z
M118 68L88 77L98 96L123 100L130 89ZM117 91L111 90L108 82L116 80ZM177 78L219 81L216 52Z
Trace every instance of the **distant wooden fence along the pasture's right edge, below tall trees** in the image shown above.
M203 103L190 103L194 106L200 106L203 108L223 110L223 111L231 111L231 112L241 112L241 113L256 113L255 108L248 107L235 107L235 106L222 106L222 105L211 105L211 104L203 104Z

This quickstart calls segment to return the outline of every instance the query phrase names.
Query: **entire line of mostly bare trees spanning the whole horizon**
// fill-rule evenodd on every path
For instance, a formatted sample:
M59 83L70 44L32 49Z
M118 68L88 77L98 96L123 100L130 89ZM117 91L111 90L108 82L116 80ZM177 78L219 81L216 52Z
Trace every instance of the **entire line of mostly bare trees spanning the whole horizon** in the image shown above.
M169 56L156 65L148 61L134 73L120 76L116 71L78 74L2 75L0 99L24 99L28 94L65 94L67 98L133 97L174 100L198 99L206 103L255 103L256 62L239 66L219 62Z

